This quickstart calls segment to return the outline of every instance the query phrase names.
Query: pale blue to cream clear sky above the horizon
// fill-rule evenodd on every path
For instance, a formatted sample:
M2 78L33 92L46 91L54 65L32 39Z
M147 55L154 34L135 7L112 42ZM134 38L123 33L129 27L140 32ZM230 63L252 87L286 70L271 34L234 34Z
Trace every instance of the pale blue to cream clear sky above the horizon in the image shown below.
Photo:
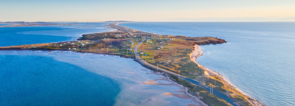
M6 21L295 21L295 0L0 0Z

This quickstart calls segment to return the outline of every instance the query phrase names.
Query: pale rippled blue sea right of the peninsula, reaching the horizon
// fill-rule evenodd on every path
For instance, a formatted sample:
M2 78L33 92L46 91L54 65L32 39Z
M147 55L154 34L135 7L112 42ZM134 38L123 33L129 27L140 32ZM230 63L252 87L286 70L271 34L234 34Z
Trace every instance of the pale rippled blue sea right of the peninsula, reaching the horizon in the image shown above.
M228 43L201 45L204 54L197 61L266 105L295 105L294 22L138 22L119 25L157 34L225 39Z

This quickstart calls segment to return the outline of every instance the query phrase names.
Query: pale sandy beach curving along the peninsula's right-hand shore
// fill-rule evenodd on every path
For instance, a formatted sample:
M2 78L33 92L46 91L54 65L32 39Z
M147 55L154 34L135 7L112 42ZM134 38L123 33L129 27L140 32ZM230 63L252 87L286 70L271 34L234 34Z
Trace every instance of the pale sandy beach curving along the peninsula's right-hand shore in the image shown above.
M193 51L190 53L190 59L191 61L194 61L201 69L204 70L204 74L205 75L216 75L217 77L219 77L222 82L224 82L225 84L229 85L230 87L233 87L233 89L235 89L236 91L238 91L239 93L242 93L244 96L247 97L247 100L249 101L249 103L251 103L253 106L264 106L262 103L260 103L258 100L251 98L249 95L247 95L246 93L242 92L242 90L240 90L239 88L235 87L232 83L228 82L228 80L223 77L221 74L218 74L217 72L214 72L204 66L202 66L201 64L199 64L196 59L200 56L203 55L203 51L201 50L201 47L199 45L194 45L194 49Z

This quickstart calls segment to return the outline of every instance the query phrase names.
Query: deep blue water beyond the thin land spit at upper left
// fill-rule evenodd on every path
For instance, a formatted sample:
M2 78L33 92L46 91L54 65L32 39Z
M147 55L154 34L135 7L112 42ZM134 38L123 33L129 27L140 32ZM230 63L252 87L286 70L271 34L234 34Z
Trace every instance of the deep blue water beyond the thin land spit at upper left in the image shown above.
M108 23L72 23L77 25L0 27L0 46L26 45L77 40L82 34L106 32Z

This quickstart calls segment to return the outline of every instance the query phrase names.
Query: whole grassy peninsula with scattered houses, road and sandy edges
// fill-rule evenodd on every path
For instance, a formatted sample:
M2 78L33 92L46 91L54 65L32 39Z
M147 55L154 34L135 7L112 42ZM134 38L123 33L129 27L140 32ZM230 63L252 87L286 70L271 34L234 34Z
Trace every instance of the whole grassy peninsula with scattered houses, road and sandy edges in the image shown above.
M262 105L234 87L220 74L196 62L196 58L202 55L198 45L222 44L227 43L226 40L153 34L120 26L118 23L107 26L117 30L83 34L77 41L7 46L0 47L0 50L73 50L128 56L142 66L164 72L208 105Z

